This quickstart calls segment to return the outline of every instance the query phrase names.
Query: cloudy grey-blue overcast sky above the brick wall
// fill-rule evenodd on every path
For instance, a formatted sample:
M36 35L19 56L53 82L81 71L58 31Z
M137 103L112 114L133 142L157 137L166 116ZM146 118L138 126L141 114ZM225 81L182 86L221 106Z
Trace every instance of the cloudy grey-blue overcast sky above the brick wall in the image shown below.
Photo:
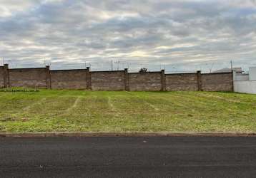
M12 68L246 70L256 0L0 0L0 56Z

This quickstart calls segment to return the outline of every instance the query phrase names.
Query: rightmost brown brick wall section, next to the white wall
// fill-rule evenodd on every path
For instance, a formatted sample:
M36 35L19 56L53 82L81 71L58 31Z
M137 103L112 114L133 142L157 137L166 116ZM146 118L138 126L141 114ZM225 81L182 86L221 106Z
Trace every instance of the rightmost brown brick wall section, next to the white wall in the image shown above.
M201 78L204 91L233 91L232 73L207 73Z

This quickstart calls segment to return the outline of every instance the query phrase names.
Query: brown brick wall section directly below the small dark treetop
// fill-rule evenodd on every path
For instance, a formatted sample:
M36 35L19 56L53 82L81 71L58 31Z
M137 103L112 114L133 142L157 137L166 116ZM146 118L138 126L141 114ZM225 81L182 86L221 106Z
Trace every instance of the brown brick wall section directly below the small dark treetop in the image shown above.
M162 73L129 73L129 90L160 91L162 90Z

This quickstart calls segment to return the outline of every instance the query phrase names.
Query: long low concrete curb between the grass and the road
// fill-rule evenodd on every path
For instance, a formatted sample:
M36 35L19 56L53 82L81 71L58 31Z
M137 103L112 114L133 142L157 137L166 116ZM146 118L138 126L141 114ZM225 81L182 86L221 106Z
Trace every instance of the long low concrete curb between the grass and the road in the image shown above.
M256 132L0 132L0 137L256 137Z

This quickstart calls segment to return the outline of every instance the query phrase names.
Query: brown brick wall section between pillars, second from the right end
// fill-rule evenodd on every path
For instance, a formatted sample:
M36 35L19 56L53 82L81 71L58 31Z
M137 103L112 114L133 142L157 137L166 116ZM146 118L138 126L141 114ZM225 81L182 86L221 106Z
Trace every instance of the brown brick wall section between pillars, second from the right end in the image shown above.
M167 91L198 90L197 73L166 74L165 80Z

